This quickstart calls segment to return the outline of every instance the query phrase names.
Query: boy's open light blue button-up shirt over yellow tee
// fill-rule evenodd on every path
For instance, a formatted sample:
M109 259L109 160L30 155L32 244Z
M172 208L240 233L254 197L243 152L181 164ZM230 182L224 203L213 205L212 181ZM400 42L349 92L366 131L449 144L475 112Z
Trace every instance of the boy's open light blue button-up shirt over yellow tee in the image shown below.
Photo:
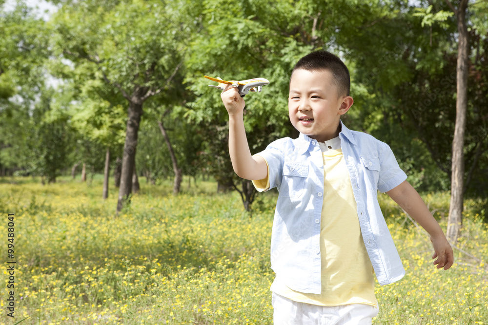
M378 190L389 191L407 179L390 147L342 124L342 152L356 199L361 233L380 285L405 275L378 203ZM287 287L321 291L320 219L324 162L319 143L305 134L282 138L257 153L269 166L269 189L279 191L271 233L271 268ZM354 258L354 252L344 258Z

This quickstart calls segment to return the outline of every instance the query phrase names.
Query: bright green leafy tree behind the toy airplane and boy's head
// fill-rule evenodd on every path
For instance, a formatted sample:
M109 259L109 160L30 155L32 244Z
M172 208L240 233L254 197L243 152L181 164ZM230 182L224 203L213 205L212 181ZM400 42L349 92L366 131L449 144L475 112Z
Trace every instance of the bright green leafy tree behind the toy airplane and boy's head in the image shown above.
M290 73L300 57L321 48L337 54L347 53L350 47L360 46L363 40L358 37L358 30L364 33L366 27L358 26L367 26L370 21L374 25L375 20L393 15L386 6L347 0L333 4L311 0L272 3L211 0L204 5L203 32L194 42L188 62L192 71L188 80L191 79L191 89L197 96L187 116L195 123L210 125L207 128L213 131L227 132L222 128L227 115L219 94L206 87L207 80L202 76L236 80L266 77L270 84L263 92L245 98L244 123L251 152L263 150L276 138L297 136L288 122L286 108ZM232 34L229 34L229 26L232 26ZM349 40L351 44L347 44ZM213 136L208 141L209 150L218 151L219 144L212 141L222 138L224 136ZM224 181L222 176L232 173L226 164L219 167L215 169L219 171L216 177ZM254 188L248 181L241 186L242 180L228 180L241 192L246 210L250 209Z

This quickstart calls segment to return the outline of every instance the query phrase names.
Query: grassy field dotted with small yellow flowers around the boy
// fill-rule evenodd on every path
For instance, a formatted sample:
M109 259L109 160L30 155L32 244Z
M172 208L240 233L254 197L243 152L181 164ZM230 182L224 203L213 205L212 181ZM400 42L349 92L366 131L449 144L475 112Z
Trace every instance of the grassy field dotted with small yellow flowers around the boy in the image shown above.
M184 183L183 183L184 184ZM269 242L276 194L260 194L252 218L237 193L216 184L171 195L145 185L114 215L102 181L0 179L0 325L272 324ZM424 199L446 229L448 193ZM427 233L385 195L380 205L407 275L380 287L374 324L488 324L488 231L467 200L455 264L432 265ZM15 213L14 259L7 213ZM10 229L12 230L12 229ZM15 288L7 288L15 260ZM14 290L15 319L7 297Z

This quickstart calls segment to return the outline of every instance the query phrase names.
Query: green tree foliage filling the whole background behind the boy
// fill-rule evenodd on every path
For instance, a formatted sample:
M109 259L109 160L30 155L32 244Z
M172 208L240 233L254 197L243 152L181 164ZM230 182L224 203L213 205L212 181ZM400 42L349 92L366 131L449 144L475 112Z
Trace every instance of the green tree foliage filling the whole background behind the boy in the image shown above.
M144 105L138 174L153 182L173 177L157 140L155 125L163 119L183 173L239 184L222 145L225 110L202 76L271 81L245 98L246 131L258 152L273 139L297 135L286 114L289 73L298 58L324 48L343 57L351 72L355 104L345 123L388 143L419 191L450 186L457 45L444 1L51 3L57 12L44 19L22 1L1 12L3 175L54 182L81 163L102 172L106 148L116 167L124 94L144 85L157 92ZM477 1L469 10L466 192L486 196L488 9Z

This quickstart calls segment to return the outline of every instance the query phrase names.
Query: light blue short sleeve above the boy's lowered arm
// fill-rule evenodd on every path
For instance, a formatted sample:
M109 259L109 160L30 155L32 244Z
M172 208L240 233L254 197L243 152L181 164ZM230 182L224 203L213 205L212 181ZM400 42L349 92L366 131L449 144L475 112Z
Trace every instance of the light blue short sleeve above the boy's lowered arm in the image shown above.
M383 143L379 158L378 190L385 193L403 183L407 179L407 174L400 168L395 155L386 143Z

